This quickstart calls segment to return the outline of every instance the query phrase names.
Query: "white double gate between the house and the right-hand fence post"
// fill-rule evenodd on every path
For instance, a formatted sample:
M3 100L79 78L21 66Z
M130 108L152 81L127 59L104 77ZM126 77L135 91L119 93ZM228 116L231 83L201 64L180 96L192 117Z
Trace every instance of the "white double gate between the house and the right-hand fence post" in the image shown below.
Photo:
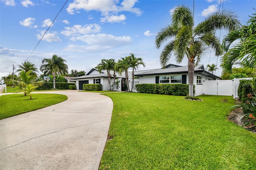
M233 96L234 80L208 80L203 81L204 95Z

